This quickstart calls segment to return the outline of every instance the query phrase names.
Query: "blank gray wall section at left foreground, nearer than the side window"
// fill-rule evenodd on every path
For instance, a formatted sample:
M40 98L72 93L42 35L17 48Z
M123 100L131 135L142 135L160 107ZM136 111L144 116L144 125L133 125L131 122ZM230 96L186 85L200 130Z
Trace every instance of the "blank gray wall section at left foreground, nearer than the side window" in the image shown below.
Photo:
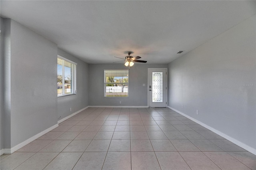
M14 20L6 22L4 84L10 93L4 96L4 138L10 141L4 148L11 148L57 123L57 45Z

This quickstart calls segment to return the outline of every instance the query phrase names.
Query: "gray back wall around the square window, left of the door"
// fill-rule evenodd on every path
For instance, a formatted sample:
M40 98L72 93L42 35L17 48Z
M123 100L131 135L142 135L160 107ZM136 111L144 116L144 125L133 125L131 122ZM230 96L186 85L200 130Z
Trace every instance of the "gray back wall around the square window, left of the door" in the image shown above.
M89 64L90 106L147 106L148 68L167 68L167 64L135 63L129 70L129 97L104 97L104 69L128 69L122 64ZM146 84L145 87L142 84ZM119 104L119 101L122 104Z

